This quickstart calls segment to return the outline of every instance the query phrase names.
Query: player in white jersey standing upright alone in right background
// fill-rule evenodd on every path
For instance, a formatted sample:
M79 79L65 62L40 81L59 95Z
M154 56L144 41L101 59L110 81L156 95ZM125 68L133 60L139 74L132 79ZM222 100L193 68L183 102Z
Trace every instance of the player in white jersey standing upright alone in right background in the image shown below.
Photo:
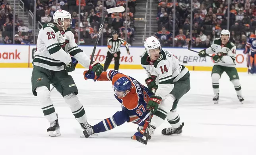
M230 81L235 86L237 97L240 102L244 100L242 97L241 85L236 66L236 46L234 43L229 42L230 33L229 30L221 31L221 38L216 38L211 46L198 53L200 57L206 57L208 54L216 53L213 57L214 66L211 71L211 81L213 88L213 101L218 104L219 101L219 79L221 74L226 72Z

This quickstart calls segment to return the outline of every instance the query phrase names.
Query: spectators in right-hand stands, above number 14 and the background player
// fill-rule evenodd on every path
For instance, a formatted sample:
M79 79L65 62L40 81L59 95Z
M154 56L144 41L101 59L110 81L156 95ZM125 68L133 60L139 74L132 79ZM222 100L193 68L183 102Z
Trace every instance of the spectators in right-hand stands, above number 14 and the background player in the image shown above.
M175 31L174 47L187 47L192 33L192 47L206 48L220 32L227 29L229 20L230 41L237 48L244 48L246 38L255 33L256 27L256 0L231 0L228 12L227 0L193 0L192 23L190 23L190 0L159 0L158 32L155 36L163 46L173 47L173 29ZM175 16L173 19L175 5ZM175 26L173 27L173 22ZM190 32L192 25L192 32Z

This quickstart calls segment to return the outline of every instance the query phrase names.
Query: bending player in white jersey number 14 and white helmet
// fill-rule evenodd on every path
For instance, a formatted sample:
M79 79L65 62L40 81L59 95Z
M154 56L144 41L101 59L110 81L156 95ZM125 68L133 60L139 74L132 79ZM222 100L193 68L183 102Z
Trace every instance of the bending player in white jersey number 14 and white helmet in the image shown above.
M162 134L180 134L184 123L176 112L178 100L190 90L188 68L170 52L163 50L157 38L145 39L145 53L141 64L148 72L145 82L149 89L156 90L147 102L147 109L153 108L153 117L149 127L149 136L167 118L171 127L162 130Z

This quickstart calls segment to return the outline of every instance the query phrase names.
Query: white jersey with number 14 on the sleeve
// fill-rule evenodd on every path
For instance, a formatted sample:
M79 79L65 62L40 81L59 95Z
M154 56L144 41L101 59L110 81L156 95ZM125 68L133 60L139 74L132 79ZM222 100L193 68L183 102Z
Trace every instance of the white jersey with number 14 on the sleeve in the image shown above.
M165 99L171 93L174 83L183 77L188 68L180 64L180 61L169 51L161 50L156 61L150 61L149 55L145 52L141 58L142 67L147 70L148 77L156 76L156 96Z

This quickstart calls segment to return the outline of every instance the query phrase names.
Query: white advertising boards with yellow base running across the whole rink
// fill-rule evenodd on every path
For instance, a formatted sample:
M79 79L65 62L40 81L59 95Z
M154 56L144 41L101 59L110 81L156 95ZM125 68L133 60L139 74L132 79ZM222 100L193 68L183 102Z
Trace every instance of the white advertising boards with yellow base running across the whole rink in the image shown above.
M91 57L93 46L80 46L80 48L86 53L88 57ZM32 61L35 55L35 45L0 45L0 66L12 67L22 66L17 63L23 63L23 67L32 67ZM8 51L5 51L8 49ZM107 55L106 46L98 46L95 51L94 60L104 64ZM144 47L130 47L130 55L127 54L126 48L121 47L120 51L120 68L127 69L143 69L140 65L140 56L144 53ZM173 53L180 63L189 68L189 70L211 70L213 61L211 57L199 57L197 53L188 51L184 48L164 48L165 50ZM195 49L200 51L202 49ZM10 63L10 64L6 64ZM242 50L236 51L236 63L237 70L240 72L246 72L246 55L242 53ZM26 65L25 65L26 64ZM80 64L77 68L83 68ZM114 59L109 66L110 69L114 68Z

